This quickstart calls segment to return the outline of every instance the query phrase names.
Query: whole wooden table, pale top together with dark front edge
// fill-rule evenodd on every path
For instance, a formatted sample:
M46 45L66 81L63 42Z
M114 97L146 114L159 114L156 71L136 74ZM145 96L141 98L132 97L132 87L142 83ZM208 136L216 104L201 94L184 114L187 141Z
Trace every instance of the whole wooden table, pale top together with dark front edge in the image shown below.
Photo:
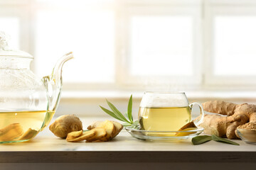
M93 118L82 120L86 125ZM110 142L67 142L48 128L30 142L0 145L0 163L11 162L256 162L256 145L234 140L240 146L210 141L182 142L137 140L125 130Z

